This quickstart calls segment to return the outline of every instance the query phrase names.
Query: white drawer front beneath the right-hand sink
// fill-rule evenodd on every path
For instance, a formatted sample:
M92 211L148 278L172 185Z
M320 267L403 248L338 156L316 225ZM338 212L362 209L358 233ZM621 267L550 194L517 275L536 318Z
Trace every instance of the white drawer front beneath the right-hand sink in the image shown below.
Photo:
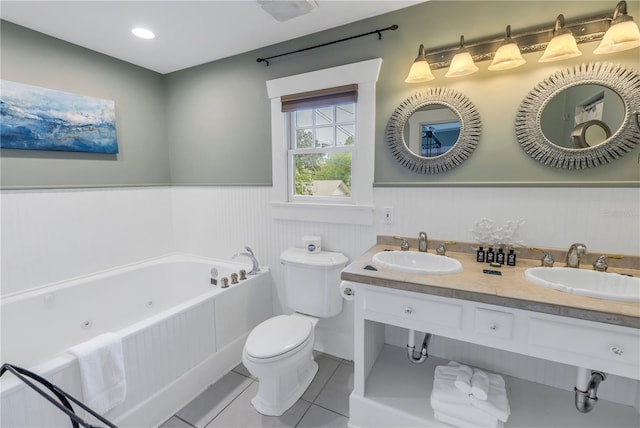
M529 343L621 364L640 361L640 332L530 318Z

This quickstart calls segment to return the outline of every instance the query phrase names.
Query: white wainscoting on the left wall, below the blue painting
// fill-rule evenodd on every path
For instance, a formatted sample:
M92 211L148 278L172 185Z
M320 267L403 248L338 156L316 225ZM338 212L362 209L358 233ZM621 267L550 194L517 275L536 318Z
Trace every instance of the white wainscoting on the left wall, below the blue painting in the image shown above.
M2 295L173 251L170 189L3 191Z

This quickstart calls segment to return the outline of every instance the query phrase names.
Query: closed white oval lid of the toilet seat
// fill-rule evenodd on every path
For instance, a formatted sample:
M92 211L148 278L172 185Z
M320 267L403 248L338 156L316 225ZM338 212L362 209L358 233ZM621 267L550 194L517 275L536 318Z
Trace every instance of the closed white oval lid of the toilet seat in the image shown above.
M260 323L247 337L245 350L253 358L272 358L304 343L313 328L305 318L278 315Z

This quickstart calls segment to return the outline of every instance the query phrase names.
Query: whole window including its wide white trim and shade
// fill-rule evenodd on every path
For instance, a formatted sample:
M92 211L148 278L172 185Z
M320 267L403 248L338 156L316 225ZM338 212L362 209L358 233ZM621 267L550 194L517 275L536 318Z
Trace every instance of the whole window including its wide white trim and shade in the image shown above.
M376 58L267 82L275 219L373 224L381 64Z

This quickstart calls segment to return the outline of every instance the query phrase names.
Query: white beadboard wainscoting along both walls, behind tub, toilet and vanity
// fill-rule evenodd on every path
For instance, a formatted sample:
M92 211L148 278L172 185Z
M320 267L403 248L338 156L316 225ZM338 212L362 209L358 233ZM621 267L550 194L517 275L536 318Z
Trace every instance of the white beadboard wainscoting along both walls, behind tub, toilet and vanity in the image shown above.
M172 251L229 259L248 245L271 267L273 311L283 313L289 311L282 304L279 255L300 246L303 235L320 235L324 249L353 260L378 234L417 237L426 231L431 239L472 241L471 229L482 217L499 223L524 218L527 246L582 242L591 252L640 253L635 188L376 188L374 226L273 220L271 200L270 187L2 192L2 293ZM382 224L382 207L393 207L392 225ZM318 331L326 352L351 358L352 304L323 320ZM474 355L482 365L485 354ZM502 357L513 358L504 364L516 373L530 367L516 354ZM486 358L488 365L494 356ZM561 370L547 362L541 367L522 377L545 383L555 378L548 373Z

